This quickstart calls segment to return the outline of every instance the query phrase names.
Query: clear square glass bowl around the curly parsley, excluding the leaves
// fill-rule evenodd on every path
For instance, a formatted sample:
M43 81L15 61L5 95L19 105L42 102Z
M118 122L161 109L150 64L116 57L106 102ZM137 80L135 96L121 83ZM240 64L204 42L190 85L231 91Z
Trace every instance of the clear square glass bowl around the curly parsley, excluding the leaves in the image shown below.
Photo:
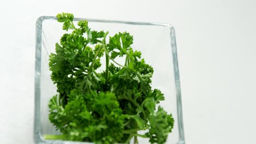
M79 18L74 18L78 22ZM182 144L184 141L181 86L176 50L174 28L165 23L126 22L112 20L86 19L91 29L109 31L108 36L118 32L129 32L133 35L133 50L142 52L142 58L152 65L154 74L152 88L158 88L165 95L160 105L167 113L172 113L174 128L168 135L166 143ZM36 23L36 71L35 71L35 116L34 140L36 143L86 143L62 140L44 140L43 135L60 134L48 119L48 103L57 94L56 85L51 81L49 70L49 55L55 52L55 43L59 43L62 23L54 16L39 17ZM108 39L107 39L108 41ZM104 67L102 63L102 67ZM139 143L149 143L148 139L140 139Z

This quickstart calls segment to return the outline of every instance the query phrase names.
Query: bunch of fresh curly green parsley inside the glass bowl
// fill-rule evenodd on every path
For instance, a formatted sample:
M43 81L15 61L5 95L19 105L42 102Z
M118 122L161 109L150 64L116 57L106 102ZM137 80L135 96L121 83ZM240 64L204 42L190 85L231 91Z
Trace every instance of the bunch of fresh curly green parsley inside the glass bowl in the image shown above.
M62 135L45 135L45 139L128 143L137 136L150 143L165 143L173 128L172 115L156 104L164 100L159 89L150 86L153 68L133 51L133 37L119 32L92 31L88 21L74 26L73 14L57 15L68 31L51 53L51 79L58 95L49 101L49 119ZM70 31L69 31L70 30ZM101 57L106 68L101 72ZM115 58L123 57L124 64ZM144 135L137 132L147 130Z

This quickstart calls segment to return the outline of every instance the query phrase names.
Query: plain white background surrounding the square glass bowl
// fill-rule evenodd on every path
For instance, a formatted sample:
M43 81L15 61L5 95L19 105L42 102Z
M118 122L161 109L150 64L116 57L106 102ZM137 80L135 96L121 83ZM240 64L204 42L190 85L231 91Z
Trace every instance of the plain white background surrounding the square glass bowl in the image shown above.
M76 17L176 28L185 140L256 143L256 1L0 1L0 141L33 143L35 23Z

